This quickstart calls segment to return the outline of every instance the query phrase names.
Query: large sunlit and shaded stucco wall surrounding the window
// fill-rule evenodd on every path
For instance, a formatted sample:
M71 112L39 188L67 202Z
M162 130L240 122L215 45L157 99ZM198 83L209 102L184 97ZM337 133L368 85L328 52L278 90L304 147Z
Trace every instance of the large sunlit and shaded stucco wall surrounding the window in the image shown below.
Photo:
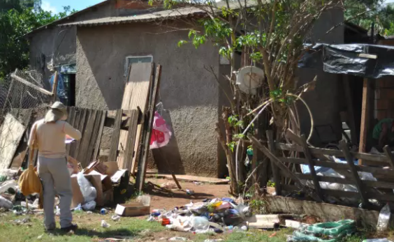
M166 26L78 27L76 103L86 108L120 108L126 56L152 55L154 63L162 65L159 101L174 134L168 146L153 152L159 171L217 176L219 144L214 128L219 87L204 66L219 73L218 50L211 44L198 50L191 45L177 47L179 40L188 38L188 31L168 32L173 29Z

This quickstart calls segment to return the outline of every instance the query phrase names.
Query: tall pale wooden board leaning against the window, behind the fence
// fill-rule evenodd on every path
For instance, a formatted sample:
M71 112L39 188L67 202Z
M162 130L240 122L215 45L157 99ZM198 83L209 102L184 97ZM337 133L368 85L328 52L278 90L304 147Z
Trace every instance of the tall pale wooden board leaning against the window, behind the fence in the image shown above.
M145 112L147 109L147 101L149 97L149 86L152 79L152 63L133 63L129 72L129 80L127 80L124 88L124 96L122 101L122 109L131 110L140 109ZM124 147L127 144L127 133L128 131L121 130L119 138L119 151L124 151ZM138 151L140 144L140 133L141 126L138 126L136 133L136 145L134 151ZM135 162L136 156L133 158ZM119 156L117 159L119 167L124 167L124 157ZM126 165L127 167L128 165ZM133 173L133 171L131 171Z

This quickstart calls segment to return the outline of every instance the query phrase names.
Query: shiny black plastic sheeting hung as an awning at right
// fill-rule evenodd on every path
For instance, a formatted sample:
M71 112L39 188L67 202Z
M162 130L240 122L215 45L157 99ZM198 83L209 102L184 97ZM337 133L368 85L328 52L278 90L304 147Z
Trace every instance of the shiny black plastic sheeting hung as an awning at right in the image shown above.
M367 57L365 54L376 55L377 58ZM377 79L394 75L394 47L367 44L316 44L302 56L298 67Z

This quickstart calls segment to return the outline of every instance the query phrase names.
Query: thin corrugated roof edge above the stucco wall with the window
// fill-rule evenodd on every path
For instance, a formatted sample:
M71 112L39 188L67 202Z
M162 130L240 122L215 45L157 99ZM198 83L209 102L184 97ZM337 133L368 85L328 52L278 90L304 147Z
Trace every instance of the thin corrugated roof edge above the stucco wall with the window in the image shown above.
M177 8L172 10L163 10L154 13L147 13L143 15L125 16L125 17L103 17L96 20L85 20L79 22L71 22L66 24L59 24L60 27L71 26L96 26L106 24L125 24L131 22L153 22L158 20L175 20L181 17L191 17L201 15L206 11L202 8L187 7Z

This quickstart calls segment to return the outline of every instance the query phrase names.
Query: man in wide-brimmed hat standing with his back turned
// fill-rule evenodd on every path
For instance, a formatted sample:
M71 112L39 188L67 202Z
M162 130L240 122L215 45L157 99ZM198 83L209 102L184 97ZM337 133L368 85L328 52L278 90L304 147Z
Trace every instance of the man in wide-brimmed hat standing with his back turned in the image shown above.
M55 102L45 114L45 118L36 121L31 128L29 147L31 151L38 149L38 174L44 188L44 224L45 229L56 227L54 220L55 189L60 197L60 227L68 232L77 229L72 223L71 178L67 169L66 137L80 139L80 131L73 128L65 120L67 109L63 103ZM34 141L34 142L33 142ZM34 144L34 147L31 147Z

